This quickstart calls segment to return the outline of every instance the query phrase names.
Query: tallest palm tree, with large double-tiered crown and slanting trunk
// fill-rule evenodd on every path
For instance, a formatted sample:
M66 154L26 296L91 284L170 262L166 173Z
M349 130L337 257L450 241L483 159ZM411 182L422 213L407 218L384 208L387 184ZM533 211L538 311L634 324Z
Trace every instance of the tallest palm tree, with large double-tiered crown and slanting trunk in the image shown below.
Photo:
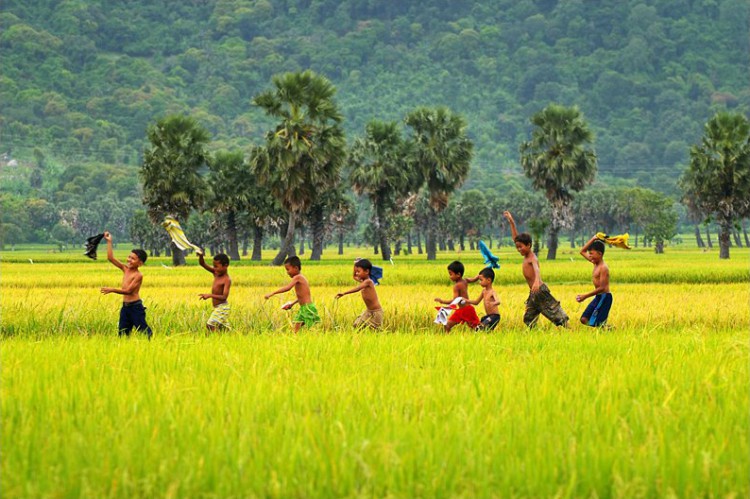
M294 255L295 221L319 191L339 182L346 156L341 114L333 101L335 87L312 71L273 78L274 89L253 102L279 120L266 134L266 144L254 148L251 168L289 213L287 233L273 260L281 265Z

